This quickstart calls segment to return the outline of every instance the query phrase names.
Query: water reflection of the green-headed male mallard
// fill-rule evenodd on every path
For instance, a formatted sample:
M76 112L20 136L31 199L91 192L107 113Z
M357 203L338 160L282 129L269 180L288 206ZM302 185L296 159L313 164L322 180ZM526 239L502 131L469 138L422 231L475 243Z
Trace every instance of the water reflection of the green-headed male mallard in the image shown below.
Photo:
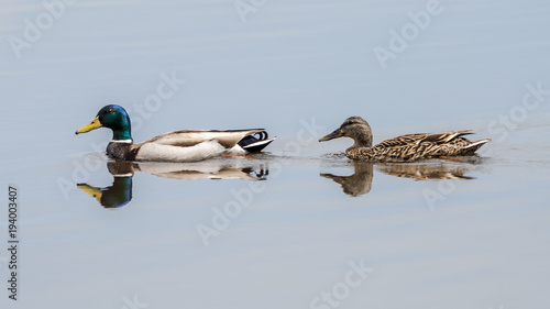
M132 199L132 177L135 172L143 172L164 178L178 180L195 179L248 179L265 180L270 170L265 163L260 166L252 164L220 163L216 161L201 163L133 163L112 161L107 163L107 169L113 176L109 187L92 187L78 184L77 187L94 197L105 208L120 208Z

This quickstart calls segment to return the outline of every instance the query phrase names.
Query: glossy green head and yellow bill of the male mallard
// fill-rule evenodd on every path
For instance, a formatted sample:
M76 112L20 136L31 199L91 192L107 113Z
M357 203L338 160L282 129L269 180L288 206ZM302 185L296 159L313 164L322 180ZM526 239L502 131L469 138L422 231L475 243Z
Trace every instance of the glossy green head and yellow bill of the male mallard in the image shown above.
M101 126L112 130L113 140L132 140L130 117L123 107L113 104L100 109L96 118L78 129L75 134L90 132Z

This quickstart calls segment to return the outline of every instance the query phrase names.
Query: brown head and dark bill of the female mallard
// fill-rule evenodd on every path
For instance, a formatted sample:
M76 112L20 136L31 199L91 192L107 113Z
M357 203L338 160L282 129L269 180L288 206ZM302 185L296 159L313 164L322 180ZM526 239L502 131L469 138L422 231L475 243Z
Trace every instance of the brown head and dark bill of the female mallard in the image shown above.
M340 128L320 139L319 142L326 142L338 137L353 139L355 142L353 147L371 147L373 145L371 125L359 115L348 118Z

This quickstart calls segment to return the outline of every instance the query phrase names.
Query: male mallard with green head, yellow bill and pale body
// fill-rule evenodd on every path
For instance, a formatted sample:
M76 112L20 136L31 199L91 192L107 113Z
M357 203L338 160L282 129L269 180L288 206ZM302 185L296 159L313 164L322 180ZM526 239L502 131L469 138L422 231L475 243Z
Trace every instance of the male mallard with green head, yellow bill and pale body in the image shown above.
M134 144L130 117L119 106L106 106L87 125L76 131L86 133L106 126L112 130L107 154L127 161L194 162L223 154L243 155L260 152L275 139L267 139L264 129L205 131L184 130L165 133ZM256 135L256 136L254 136Z

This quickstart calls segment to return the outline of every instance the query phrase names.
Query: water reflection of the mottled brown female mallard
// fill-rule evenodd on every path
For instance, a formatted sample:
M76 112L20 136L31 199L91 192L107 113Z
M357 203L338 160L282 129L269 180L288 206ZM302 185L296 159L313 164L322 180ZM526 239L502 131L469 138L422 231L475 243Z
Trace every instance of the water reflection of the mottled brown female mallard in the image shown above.
M353 161L354 174L351 176L337 176L333 174L320 174L321 177L330 178L342 186L344 194L358 197L369 194L373 184L373 163ZM444 163L404 163L376 165L376 169L387 175L411 178L415 180L430 179L475 179L466 176L466 166L448 165Z

